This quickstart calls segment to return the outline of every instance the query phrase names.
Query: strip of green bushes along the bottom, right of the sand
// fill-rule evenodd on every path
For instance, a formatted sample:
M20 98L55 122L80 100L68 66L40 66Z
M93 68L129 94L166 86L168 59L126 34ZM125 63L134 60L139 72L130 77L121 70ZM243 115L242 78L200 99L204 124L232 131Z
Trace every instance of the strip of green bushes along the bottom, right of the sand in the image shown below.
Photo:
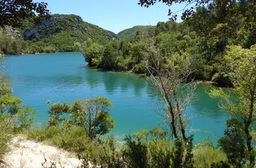
M84 167L230 167L226 154L209 140L195 145L191 151L191 143L167 140L166 132L157 128L127 136L123 146L117 145L114 136L91 140L79 126L69 130L61 126L35 128L27 132L27 137L74 153Z

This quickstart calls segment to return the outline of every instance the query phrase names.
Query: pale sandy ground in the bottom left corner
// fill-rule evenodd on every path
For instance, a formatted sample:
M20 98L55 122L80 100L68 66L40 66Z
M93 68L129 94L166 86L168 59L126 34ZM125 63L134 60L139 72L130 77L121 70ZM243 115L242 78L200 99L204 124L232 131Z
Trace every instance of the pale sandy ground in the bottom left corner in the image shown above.
M11 151L5 156L2 167L42 168L56 164L56 167L73 168L81 165L79 159L71 157L71 154L66 151L26 140L22 136L13 138L10 147Z

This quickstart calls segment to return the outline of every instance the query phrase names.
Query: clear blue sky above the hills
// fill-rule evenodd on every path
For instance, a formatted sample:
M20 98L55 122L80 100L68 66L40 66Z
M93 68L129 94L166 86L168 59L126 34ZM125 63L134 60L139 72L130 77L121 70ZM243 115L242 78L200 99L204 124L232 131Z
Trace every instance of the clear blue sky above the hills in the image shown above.
M39 1L39 0L38 0ZM156 25L168 21L169 7L156 3L149 7L137 5L139 0L44 0L51 13L80 15L85 22L118 33L137 25ZM183 5L173 5L179 11ZM178 22L180 19L178 20Z

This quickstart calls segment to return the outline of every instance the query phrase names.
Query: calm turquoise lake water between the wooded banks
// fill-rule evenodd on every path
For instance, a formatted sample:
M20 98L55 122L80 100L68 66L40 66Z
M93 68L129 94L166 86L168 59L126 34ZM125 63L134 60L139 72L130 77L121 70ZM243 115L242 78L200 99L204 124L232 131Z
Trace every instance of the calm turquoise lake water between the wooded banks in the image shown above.
M112 134L119 140L125 134L163 124L163 119L150 108L156 95L152 95L150 85L140 75L90 69L79 52L5 56L4 60L6 75L13 82L13 95L36 110L35 123L46 123L49 119L46 100L73 103L75 99L104 96L113 103ZM197 101L187 109L187 114L193 116L189 126L222 136L230 115L218 108L218 99L207 95L211 88L197 87ZM195 141L210 136L216 142L211 134L195 132Z

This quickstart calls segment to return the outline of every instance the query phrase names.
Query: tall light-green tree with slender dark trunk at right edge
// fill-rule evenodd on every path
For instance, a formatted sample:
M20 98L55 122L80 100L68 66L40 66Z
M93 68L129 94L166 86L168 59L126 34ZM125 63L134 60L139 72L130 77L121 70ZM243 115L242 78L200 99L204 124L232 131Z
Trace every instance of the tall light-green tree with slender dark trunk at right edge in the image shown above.
M212 97L220 97L220 108L241 118L247 151L249 153L250 167L255 165L253 150L253 123L256 120L256 45L251 49L243 49L241 46L230 46L224 59L228 77L234 85L234 93L238 97L238 103L234 103L222 89L213 90Z

